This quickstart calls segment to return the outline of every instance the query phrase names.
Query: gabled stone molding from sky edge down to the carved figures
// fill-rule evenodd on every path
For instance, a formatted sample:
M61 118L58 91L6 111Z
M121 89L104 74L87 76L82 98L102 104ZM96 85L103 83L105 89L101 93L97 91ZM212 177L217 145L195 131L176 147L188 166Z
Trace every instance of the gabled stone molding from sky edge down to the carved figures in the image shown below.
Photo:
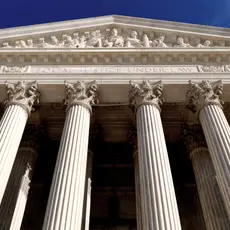
M70 21L46 23L40 25L23 26L18 28L3 29L0 31L1 40L6 40L7 38L14 38L14 40L19 40L18 37L25 38L26 36L35 37L43 35L60 35L63 33L71 34L77 31L94 31L103 30L106 31L107 28L122 28L125 31L136 30L138 33L143 32L154 32L164 34L167 32L168 35L172 36L177 34L178 36L195 37L196 39L213 39L215 41L223 42L229 41L229 29L203 26L195 24L186 24L180 22L170 22L163 20L154 20L146 18L137 18L130 16L120 16L120 15L109 15L85 19L77 19ZM77 31L76 31L77 30ZM109 32L109 31L107 31ZM157 34L158 35L158 34Z

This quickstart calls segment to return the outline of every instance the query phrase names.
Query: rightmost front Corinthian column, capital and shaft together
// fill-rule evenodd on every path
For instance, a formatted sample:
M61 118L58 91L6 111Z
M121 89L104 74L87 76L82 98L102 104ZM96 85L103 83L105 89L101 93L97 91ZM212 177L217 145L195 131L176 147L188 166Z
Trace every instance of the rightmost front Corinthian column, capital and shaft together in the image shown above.
M223 113L221 81L189 82L187 107L197 113L204 131L217 182L230 217L230 127Z

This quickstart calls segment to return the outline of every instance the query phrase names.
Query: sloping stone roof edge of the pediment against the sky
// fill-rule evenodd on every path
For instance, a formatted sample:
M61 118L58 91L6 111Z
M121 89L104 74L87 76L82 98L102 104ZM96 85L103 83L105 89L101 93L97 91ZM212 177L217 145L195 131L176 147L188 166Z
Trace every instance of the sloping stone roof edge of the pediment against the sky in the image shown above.
M0 39L6 39L17 36L39 35L43 33L51 33L58 31L67 31L82 27L102 26L106 24L124 24L131 26L145 26L153 28L163 28L170 30L188 31L192 33L213 34L219 36L230 35L229 28L213 27L181 22L171 22L164 20L155 20L149 18L122 16L122 15L107 15L100 17L81 18L69 21L42 23L29 26L13 27L0 30Z

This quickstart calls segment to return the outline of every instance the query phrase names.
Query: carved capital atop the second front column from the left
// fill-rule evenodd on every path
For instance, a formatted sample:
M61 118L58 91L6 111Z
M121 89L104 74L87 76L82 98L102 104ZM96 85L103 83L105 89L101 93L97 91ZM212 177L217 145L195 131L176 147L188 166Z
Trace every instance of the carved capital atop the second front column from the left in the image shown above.
M92 112L92 105L98 103L98 93L96 81L84 83L84 81L77 81L75 84L67 81L65 84L65 100L67 110L73 105L82 105Z

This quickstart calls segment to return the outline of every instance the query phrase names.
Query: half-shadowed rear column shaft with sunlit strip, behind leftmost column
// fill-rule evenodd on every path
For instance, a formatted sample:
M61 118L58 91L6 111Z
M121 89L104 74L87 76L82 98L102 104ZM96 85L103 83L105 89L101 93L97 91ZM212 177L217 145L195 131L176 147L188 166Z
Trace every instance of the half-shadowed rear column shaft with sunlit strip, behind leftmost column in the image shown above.
M0 206L2 229L20 230L37 153L19 148Z

